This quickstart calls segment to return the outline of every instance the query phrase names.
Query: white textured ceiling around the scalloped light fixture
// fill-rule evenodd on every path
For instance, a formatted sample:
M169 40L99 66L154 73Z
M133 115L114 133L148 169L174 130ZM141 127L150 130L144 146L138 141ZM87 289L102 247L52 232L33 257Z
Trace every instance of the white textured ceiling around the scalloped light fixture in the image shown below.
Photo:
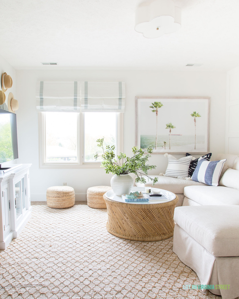
M140 2L1 0L0 54L16 69L227 71L239 65L238 0L175 0L182 27L156 39L134 30Z

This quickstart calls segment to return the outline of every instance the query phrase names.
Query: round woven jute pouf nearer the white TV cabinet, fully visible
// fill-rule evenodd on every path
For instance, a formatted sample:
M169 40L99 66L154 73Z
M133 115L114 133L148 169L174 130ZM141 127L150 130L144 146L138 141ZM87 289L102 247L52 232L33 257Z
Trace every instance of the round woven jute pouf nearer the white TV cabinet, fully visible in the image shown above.
M75 191L70 186L47 188L47 205L50 208L64 209L75 204Z

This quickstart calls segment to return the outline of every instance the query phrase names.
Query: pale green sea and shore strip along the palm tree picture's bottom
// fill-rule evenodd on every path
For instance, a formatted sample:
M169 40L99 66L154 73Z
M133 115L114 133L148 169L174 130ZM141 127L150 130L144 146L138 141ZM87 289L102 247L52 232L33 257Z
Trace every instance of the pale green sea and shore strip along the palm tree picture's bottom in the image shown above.
M155 148L155 135L140 135L140 147L147 148L151 145ZM158 135L157 136L157 148L164 148L164 141L166 141L166 148L169 148L169 135ZM171 148L185 146L195 143L195 135L173 135L171 134ZM196 136L196 146L197 144L204 144L205 136Z

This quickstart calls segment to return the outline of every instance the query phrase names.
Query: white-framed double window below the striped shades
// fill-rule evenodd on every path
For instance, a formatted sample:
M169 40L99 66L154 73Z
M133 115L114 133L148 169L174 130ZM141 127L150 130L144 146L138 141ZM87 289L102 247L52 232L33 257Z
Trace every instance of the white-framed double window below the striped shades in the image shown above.
M40 167L95 168L101 155L96 140L122 151L123 113L115 112L39 112Z

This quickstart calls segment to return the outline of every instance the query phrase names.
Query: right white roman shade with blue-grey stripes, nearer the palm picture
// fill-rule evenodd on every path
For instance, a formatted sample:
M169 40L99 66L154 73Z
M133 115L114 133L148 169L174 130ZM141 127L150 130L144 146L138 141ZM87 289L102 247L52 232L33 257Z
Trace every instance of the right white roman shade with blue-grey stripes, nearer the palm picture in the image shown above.
M82 112L124 112L125 82L81 82Z

